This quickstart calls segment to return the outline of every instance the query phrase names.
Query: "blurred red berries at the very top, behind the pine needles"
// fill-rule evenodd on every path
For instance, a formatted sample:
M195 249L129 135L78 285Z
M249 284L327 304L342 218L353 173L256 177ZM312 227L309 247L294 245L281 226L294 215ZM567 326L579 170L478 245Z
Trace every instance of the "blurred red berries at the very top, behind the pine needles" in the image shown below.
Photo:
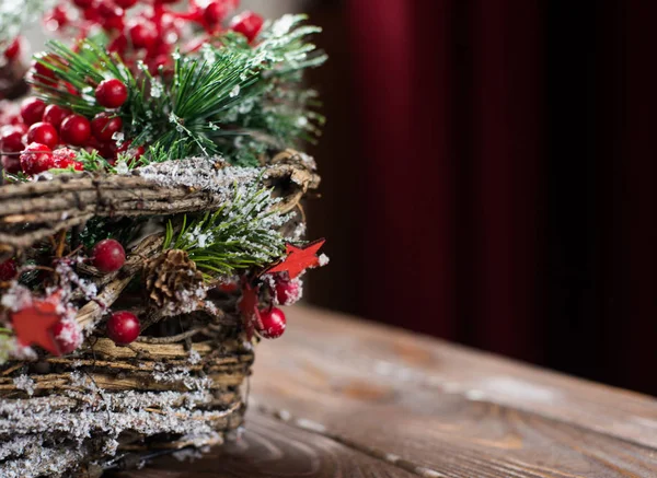
M110 37L110 51L119 54L129 67L142 60L154 72L159 67L172 65L171 54L181 45L191 23L208 35L220 32L240 0L191 0L186 10L171 8L173 3L181 3L180 0L71 0L71 3L55 7L46 15L46 25L58 31L76 30L80 37L85 37L92 27L101 26ZM78 14L73 14L70 7L78 9ZM126 11L132 8L136 10L127 19ZM245 12L232 19L228 27L252 42L262 25L261 16ZM193 42L182 49L193 50L196 45L200 46Z

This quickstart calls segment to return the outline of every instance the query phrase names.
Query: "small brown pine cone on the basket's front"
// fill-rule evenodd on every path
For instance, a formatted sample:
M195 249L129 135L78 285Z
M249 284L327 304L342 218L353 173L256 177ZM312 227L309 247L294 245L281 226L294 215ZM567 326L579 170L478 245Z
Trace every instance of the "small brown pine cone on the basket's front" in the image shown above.
M203 273L184 250L166 250L149 260L143 277L149 299L163 308L164 315L194 312L206 298Z

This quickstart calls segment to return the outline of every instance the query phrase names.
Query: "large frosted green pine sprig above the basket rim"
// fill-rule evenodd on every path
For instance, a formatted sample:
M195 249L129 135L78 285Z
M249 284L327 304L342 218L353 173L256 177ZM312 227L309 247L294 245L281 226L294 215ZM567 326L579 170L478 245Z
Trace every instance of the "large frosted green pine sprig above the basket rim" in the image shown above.
M303 70L326 59L308 42L320 28L304 20L286 15L269 23L256 46L228 32L197 53L175 53L173 74L152 75L143 65L132 74L89 39L78 51L51 42L49 55L37 61L64 82L53 86L37 75L34 84L46 101L91 117L104 109L95 103L95 86L117 78L129 93L118 110L125 137L149 147L143 161L223 154L233 164L254 166L267 148L298 147L323 124L314 113L316 94L301 88Z

